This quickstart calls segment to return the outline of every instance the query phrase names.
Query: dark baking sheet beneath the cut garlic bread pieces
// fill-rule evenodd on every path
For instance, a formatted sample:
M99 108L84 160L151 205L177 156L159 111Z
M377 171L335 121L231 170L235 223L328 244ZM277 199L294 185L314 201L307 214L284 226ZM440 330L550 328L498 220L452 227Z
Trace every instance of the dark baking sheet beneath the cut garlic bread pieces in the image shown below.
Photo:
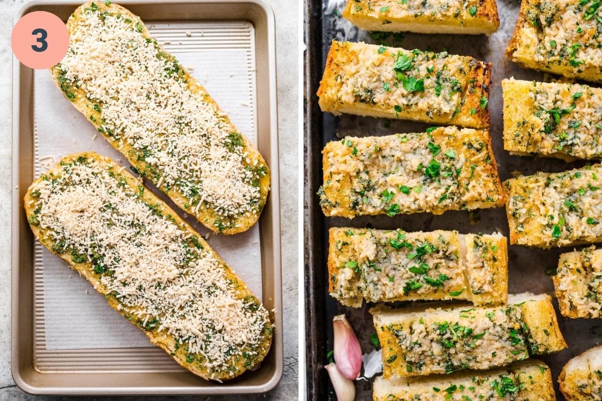
M345 313L352 323L362 351L370 352L373 346L370 334L374 332L369 305L356 309L344 307L327 293L327 230L330 227L374 227L383 229L403 228L406 231L430 231L436 229L458 230L461 233L491 233L501 231L508 236L508 224L504 209L483 209L473 216L468 212L446 212L434 216L427 213L415 215L363 216L355 219L326 218L321 212L315 195L322 182L321 150L328 141L345 135L367 136L402 132L423 131L429 124L409 121L384 120L343 115L334 117L320 111L315 93L320 84L330 41L365 41L386 43L405 49L443 51L450 54L470 55L493 63L489 108L491 110L490 135L502 180L515 172L533 174L536 171L563 171L580 167L584 162L566 163L556 159L510 156L502 142L502 98L500 81L514 76L517 79L548 81L550 76L532 70L524 70L504 57L504 50L512 35L518 17L520 2L498 1L501 25L498 32L485 35L403 35L372 34L352 26L340 17L340 7L327 13L329 0L305 0L305 318L306 363L309 400L335 400L328 375L323 369L326 354L332 349L332 317ZM336 1L330 0L330 3ZM472 217L472 218L470 218ZM476 221L475 221L476 220ZM509 246L509 292L550 293L553 284L550 274L556 269L558 256L572 248L530 249ZM569 345L568 349L553 355L539 357L552 369L554 388L558 400L565 400L556 382L560 370L570 358L602 342L602 325L598 319L565 319L560 316L554 301L560 329ZM356 382L356 400L371 400L372 381Z

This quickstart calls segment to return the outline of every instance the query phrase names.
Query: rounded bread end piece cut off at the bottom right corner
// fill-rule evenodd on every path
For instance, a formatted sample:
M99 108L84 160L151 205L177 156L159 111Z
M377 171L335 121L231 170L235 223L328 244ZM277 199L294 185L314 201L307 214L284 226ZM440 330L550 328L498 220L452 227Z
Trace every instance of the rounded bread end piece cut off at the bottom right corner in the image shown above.
M558 383L566 401L602 399L602 346L569 360L558 376Z

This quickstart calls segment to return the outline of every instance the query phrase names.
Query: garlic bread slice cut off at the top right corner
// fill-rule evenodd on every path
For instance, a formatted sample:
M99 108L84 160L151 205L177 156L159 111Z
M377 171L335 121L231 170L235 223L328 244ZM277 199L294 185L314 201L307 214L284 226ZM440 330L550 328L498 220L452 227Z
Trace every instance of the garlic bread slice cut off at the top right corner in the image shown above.
M519 66L602 82L597 0L522 0L506 56Z

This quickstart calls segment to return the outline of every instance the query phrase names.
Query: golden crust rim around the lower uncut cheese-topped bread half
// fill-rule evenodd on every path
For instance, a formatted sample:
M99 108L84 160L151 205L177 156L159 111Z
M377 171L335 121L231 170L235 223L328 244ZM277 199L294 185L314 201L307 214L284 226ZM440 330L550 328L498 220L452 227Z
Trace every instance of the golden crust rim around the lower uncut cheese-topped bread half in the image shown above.
M43 174L42 177L35 180L29 186L29 189L26 191L25 197L23 198L23 204L25 205L25 214L28 221L30 221L31 216L34 213L32 206L36 202L36 200L31 195L31 189L34 188L34 186L36 186L37 183L41 182L45 176L48 176L48 174L60 176L62 171L62 164L68 164L70 162L76 161L78 158L81 157L85 157L88 160L93 159L96 162L105 164L107 166L107 169L110 169L110 171L113 171L116 174L120 174L119 177L125 180L125 185L128 185L130 188L135 189L136 191L139 191L140 188L144 188L142 182L139 179L132 176L132 174L128 173L128 171L123 170L123 168L120 168L120 166L113 162L110 158L98 155L95 152L74 153L72 155L65 156L63 159L61 159L60 162L58 162L58 164L54 168ZM199 233L194 231L190 224L184 221L184 219L182 219L177 213L170 209L170 207L166 203L160 200L151 191L144 188L140 199L146 201L149 204L156 205L159 212L163 213L163 215L170 216L170 218L173 219L172 221L175 222L182 230L188 231L188 233L190 233L191 235L196 236L198 242L200 243L200 245L203 246L203 248L211 249L209 244L205 242L205 240L202 236L200 236ZM134 320L131 320L128 316L126 316L125 309L118 308L118 306L120 305L119 301L115 296L111 295L110 290L108 290L107 287L104 284L102 284L100 280L101 275L93 271L93 266L90 262L74 262L72 255L67 250L64 253L58 253L57 251L52 249L52 245L54 245L54 242L46 236L48 230L43 230L40 227L40 225L34 225L31 224L31 222L29 223L29 227L31 227L34 236L37 240L40 241L40 243L42 243L42 245L44 245L49 251L51 251L51 253L55 254L56 256L69 263L70 267L73 270L75 270L86 280L88 280L90 284L92 284L94 289L101 293L101 295L104 295L111 308L113 308L123 317L128 319L129 322L140 328L144 332L144 334L149 338L152 344L163 349L180 366L194 373L194 375L200 376L207 380L225 381L240 376L246 370L252 368L252 366L245 366L244 360L241 358L238 361L236 371L233 376L229 375L228 372L223 372L223 376L219 376L215 373L209 373L206 366L200 366L200 364L187 362L187 353L184 352L183 347L176 346L176 338L174 338L173 335L169 335L164 332L159 332L157 328L146 329ZM239 296L241 299L247 296L252 297L252 299L255 299L256 302L259 302L255 295L253 295L253 293L246 286L246 284L244 284L244 282L232 271L232 269L229 268L226 262L224 262L224 260L220 258L220 256L215 251L213 251L213 249L211 249L211 252L213 253L213 257L219 263L219 268L223 269L223 271L225 272L226 280L232 280L232 282L234 283L233 285L237 288L237 296ZM268 320L266 322L264 331L262 331L263 343L261 344L261 346L258 347L258 355L256 358L255 365L261 363L265 355L267 355L268 351L270 350L270 346L272 344L272 329L272 323Z

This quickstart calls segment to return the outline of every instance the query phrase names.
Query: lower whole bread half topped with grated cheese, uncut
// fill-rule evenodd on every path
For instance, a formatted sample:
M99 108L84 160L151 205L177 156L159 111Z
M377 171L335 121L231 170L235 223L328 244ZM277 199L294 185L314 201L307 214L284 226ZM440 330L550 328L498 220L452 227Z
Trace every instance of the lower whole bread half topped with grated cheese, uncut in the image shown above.
M36 238L195 375L222 381L257 366L272 341L267 310L124 169L93 152L61 159L25 195Z

